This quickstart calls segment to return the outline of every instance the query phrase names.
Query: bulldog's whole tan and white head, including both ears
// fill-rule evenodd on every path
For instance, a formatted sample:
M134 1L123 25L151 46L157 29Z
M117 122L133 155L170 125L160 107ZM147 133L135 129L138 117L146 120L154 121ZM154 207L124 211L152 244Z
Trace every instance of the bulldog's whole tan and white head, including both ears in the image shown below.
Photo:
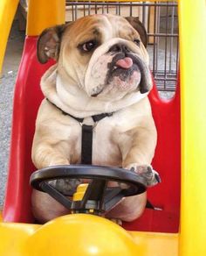
M58 60L58 72L88 96L120 99L151 89L147 34L137 18L93 15L46 29L38 60Z

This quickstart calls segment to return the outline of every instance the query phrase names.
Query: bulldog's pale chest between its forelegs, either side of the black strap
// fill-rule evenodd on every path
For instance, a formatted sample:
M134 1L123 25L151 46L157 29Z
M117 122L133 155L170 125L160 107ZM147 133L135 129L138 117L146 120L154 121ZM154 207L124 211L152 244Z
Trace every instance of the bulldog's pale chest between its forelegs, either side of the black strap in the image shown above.
M122 157L118 145L120 131L111 119L112 117L106 117L93 125L93 141L91 143L94 165L121 166ZM84 124L91 125L93 121L85 120ZM85 142L82 142L82 128L79 124L71 129L70 139L75 141L75 144L72 143L74 150L71 161L80 162L81 146Z

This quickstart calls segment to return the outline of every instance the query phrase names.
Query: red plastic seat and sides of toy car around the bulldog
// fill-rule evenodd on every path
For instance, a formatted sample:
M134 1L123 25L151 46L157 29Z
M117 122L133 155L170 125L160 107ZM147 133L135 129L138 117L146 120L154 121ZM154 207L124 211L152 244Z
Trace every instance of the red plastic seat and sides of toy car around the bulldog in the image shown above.
M31 161L31 143L38 106L43 99L41 76L53 62L41 65L37 60L37 38L27 37L17 75L10 147L10 166L3 219L6 222L32 223L29 179L35 167ZM180 90L162 101L155 89L149 95L158 143L153 167L161 174L161 184L148 189L148 199L162 210L145 210L141 218L124 223L127 230L176 232L180 210Z

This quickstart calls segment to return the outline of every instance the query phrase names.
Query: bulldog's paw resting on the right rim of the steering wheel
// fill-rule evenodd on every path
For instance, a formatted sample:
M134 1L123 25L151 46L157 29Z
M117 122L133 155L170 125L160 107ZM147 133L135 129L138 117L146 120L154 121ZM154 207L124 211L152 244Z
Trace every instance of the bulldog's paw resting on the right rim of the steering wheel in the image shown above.
M131 164L127 166L127 169L136 174L140 174L146 181L147 187L152 187L161 182L160 175L154 171L153 167L150 165Z

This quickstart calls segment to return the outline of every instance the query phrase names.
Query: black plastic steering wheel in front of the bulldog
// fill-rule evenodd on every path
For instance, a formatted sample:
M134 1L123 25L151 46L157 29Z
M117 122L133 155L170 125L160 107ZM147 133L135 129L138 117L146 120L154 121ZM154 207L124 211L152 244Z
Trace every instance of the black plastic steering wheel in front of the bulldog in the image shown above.
M51 181L70 179L88 179L86 192L79 201L73 201L72 195L65 195L52 186ZM109 187L109 181L116 186ZM40 169L31 174L31 186L44 191L72 212L93 212L102 215L120 202L125 196L139 195L147 189L147 179L133 171L118 167L100 167L89 165L55 166ZM72 192L74 194L75 191Z

